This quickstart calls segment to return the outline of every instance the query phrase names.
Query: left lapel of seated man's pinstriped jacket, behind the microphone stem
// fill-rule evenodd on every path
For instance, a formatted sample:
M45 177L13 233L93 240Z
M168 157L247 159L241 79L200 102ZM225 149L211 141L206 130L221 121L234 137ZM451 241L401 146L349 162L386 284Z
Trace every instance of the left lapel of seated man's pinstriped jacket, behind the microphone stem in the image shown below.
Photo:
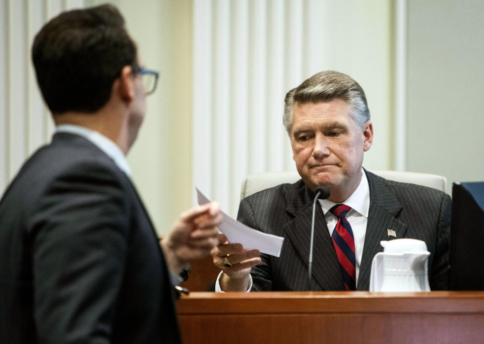
M283 229L308 267L314 194L302 184L289 199L286 211L291 213L294 218L287 222ZM333 241L329 236L324 214L319 204L316 206L315 216L313 277L323 290L344 290ZM316 285L309 285L307 288L308 290L318 289Z

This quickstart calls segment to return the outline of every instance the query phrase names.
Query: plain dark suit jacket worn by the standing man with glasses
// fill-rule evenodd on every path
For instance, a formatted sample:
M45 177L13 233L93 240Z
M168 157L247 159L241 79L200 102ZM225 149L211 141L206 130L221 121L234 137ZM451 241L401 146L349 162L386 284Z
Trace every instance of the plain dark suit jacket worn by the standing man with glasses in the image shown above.
M129 178L55 134L0 201L0 342L178 342L172 291Z

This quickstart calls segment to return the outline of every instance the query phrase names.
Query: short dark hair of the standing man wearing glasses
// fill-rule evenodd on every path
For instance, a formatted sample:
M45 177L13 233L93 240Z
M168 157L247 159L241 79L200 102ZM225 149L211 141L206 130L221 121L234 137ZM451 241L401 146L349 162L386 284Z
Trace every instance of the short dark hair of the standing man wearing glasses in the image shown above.
M54 114L94 112L106 104L123 67L136 66L136 45L112 5L64 12L35 36L37 82Z

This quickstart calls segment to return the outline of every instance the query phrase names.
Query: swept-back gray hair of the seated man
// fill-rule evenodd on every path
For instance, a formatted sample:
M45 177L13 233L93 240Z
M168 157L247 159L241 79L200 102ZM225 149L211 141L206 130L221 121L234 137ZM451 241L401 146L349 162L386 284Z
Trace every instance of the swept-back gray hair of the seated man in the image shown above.
M354 121L362 127L370 121L370 109L365 92L359 84L346 74L335 71L324 71L306 79L302 84L287 92L284 99L284 116L282 123L289 137L292 129L292 109L296 102L319 103L341 99L352 108Z

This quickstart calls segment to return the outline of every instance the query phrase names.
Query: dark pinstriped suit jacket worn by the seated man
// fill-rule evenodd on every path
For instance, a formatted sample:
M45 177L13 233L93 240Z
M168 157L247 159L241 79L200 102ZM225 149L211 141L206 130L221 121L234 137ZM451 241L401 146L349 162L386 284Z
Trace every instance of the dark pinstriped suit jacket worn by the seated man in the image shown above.
M448 288L451 199L444 192L385 180L366 171L370 211L357 290L369 290L373 257L383 251L387 228L397 238L423 240L431 253L432 290ZM240 202L238 220L262 232L285 237L280 258L262 254L253 267L254 291L344 290L338 259L321 207L317 207L313 279L308 281L308 256L314 194L302 180L251 195Z

